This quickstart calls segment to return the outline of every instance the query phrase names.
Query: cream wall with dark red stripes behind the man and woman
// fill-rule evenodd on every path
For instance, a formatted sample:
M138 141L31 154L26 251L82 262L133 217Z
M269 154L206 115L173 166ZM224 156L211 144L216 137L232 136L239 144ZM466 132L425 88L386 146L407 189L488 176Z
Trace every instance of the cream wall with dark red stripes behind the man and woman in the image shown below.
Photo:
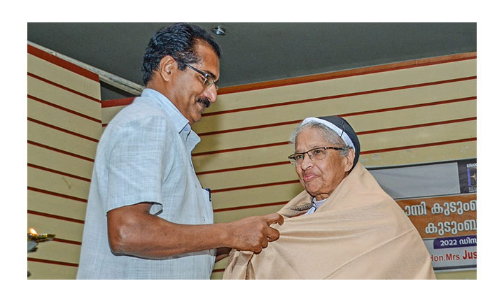
M367 167L476 157L476 61L467 53L221 89L193 126L215 221L272 213L302 190L287 156L304 117L345 117ZM131 101L104 106L104 127Z

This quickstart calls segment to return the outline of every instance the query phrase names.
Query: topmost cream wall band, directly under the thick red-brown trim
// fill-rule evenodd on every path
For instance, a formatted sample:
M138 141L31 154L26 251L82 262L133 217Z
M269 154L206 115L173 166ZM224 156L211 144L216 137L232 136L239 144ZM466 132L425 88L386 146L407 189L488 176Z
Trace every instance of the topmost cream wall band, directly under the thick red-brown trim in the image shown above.
M470 57L469 57L470 58ZM267 89L245 90L233 94L219 95L219 101L209 110L207 115L225 113L229 110L248 110L266 106L289 106L314 98L327 96L346 96L373 94L388 90L407 89L453 82L465 78L473 78L476 67L475 59L465 58L458 62L416 66L412 63L407 69L389 69L377 66L373 73L364 75L334 75L335 78L317 82L301 82ZM235 126L235 125L232 125ZM202 126L200 126L202 127ZM195 127L195 129L201 129Z

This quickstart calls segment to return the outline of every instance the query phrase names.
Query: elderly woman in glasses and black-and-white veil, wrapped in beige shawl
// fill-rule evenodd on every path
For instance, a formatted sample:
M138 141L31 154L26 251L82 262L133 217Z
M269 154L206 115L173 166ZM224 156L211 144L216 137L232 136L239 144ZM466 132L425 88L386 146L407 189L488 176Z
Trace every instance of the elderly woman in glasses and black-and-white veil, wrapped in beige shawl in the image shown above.
M346 120L309 117L291 142L304 191L279 210L279 240L260 254L232 250L225 279L435 279L418 231L358 163Z

